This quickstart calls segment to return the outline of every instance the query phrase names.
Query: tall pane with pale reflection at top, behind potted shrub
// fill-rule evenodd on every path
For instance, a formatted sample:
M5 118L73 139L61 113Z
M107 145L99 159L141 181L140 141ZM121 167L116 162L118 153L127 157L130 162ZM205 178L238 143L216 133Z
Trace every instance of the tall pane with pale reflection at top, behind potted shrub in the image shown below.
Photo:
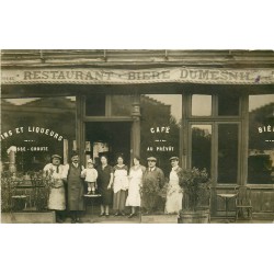
M192 125L192 167L212 170L212 125Z

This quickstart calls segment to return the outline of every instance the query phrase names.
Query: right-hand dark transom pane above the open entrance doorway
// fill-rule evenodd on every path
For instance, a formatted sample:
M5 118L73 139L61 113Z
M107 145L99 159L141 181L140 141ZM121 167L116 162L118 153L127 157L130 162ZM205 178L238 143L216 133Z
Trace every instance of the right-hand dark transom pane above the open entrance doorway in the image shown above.
M111 110L113 116L130 116L132 96L130 95L112 95Z

